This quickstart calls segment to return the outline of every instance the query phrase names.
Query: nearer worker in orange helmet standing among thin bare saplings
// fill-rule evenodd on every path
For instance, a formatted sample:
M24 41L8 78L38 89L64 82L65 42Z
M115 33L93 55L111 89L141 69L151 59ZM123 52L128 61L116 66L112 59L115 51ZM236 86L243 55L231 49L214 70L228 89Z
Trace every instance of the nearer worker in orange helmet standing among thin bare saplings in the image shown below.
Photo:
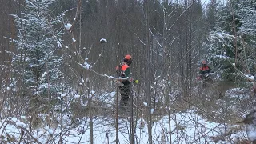
M128 102L130 99L130 94L131 94L131 85L130 85L130 64L132 63L132 58L129 54L125 56L123 59L122 64L116 67L118 77L121 77L119 80L122 82L119 85L119 90L121 93L121 101L120 105L121 106L128 106ZM122 79L126 78L126 79Z

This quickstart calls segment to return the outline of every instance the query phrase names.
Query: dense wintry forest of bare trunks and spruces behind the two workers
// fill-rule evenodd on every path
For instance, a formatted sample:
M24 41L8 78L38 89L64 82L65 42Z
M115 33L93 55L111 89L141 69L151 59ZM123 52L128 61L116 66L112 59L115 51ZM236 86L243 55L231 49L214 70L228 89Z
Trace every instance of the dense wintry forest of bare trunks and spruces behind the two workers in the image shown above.
M43 114L64 133L65 114L75 121L110 113L106 105L115 110L108 98L118 89L110 76L126 54L132 55L132 77L139 80L133 87L140 104L136 114L146 114L148 123L154 114L177 110L208 115L232 88L249 98L220 106L225 116L213 121L236 121L254 109L254 0L1 3L1 118L26 116L30 131L45 122ZM202 60L214 70L205 88L197 79ZM214 100L206 103L205 95ZM237 111L230 114L234 105Z

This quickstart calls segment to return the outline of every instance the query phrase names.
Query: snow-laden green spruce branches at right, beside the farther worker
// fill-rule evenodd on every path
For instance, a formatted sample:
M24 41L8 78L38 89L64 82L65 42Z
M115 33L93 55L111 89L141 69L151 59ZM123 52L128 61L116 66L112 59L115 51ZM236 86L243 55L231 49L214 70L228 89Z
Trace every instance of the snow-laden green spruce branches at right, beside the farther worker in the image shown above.
M250 35L245 33L245 26L250 26L246 24L248 22L246 14L250 14L253 18L254 13L253 11L248 13L251 9L250 4L252 4L250 1L232 1L230 6L218 7L214 31L210 32L208 41L204 45L208 48L207 56L221 71L222 78L233 82L245 81L241 73L248 74L250 71L250 74L255 74L255 53L252 50L255 36L252 33ZM234 69L232 63L235 63L237 69Z

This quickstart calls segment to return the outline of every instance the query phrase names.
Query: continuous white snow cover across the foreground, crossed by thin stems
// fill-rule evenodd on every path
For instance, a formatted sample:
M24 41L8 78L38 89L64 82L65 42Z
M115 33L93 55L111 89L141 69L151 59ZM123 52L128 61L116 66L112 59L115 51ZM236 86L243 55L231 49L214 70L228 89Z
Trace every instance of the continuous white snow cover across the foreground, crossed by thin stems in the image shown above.
M207 121L202 118L201 115L195 114L194 111L189 110L183 113L171 114L171 139L169 130L168 116L158 118L154 120L152 127L154 143L215 143L215 138L219 135L228 133L231 127L227 124L221 124L217 122ZM90 143L90 125L89 118L81 118L76 125L71 126L69 132L63 135L63 143ZM68 121L66 121L66 127L69 127ZM94 118L94 143L115 143L116 130L114 118ZM20 122L17 118L10 118L6 122L1 122L1 131L7 141L6 135L18 139L21 135L22 128L28 130L25 123ZM145 125L143 125L145 123ZM130 120L128 118L119 118L118 124L118 139L121 144L130 142ZM5 129L5 130L3 130ZM59 127L56 129L45 126L43 129L34 130L33 137L38 142L53 143L53 141L59 141ZM26 135L25 131L25 135ZM225 138L225 137L224 137ZM47 140L51 139L50 142ZM146 144L148 141L148 132L146 126L146 120L140 118L137 121L135 130L135 143ZM239 139L246 139L244 131L231 133L229 138L222 139L218 143L234 143ZM33 138L32 138L33 140ZM22 141L25 143L24 141Z

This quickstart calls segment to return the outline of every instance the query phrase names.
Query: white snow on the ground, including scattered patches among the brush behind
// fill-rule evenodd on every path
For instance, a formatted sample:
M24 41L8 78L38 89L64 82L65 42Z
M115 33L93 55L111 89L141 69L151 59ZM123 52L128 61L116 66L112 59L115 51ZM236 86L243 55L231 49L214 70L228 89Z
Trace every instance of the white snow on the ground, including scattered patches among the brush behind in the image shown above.
M225 97L229 102L243 99L249 99L249 95L246 95L245 89L230 89L226 91ZM92 94L95 94L92 91ZM114 103L115 92L100 94L100 96L92 97L94 101ZM66 94L62 94L66 97ZM75 100L78 100L80 96L74 96ZM79 100L78 100L79 102ZM218 103L225 103L226 100L219 99ZM234 103L234 102L233 102ZM81 106L86 106L82 105ZM144 103L146 106L146 103ZM226 106L226 105L219 105ZM106 104L106 108L112 110L113 106ZM230 110L237 110L238 106L230 106ZM214 114L222 115L220 110L216 109ZM72 115L72 114L71 114ZM245 126L231 123L230 121L224 122L211 122L205 116L207 114L198 113L194 110L186 110L182 112L176 111L170 114L170 122L168 115L153 117L152 137L154 143L169 144L171 143L238 143L239 141L247 140ZM115 114L105 116L94 116L93 122L93 137L94 144L111 144L116 143L116 122L114 118ZM29 120L26 117L21 118L6 118L0 122L0 143L10 141L10 138L15 139L15 143L18 143L21 137L22 131L25 132L22 137L21 143L34 142L34 143L58 143L60 141L61 126L60 118L57 122L46 121L47 114L40 115L40 118L44 119L39 128L36 130L30 130ZM118 122L118 143L128 144L130 143L130 118L129 114L120 115ZM146 117L146 116L144 116ZM135 117L134 117L135 118ZM218 119L218 118L216 118ZM222 118L220 118L222 119ZM218 120L216 120L218 121ZM53 124L54 123L54 124ZM169 126L170 123L170 126ZM146 144L148 142L148 128L146 124L146 118L138 118L134 120L136 124L134 141L138 144ZM170 130L171 129L171 130ZM62 126L62 138L63 143L90 143L90 118L76 118L72 119L69 115L65 114L63 117ZM171 133L171 134L170 134ZM254 133L252 133L254 134ZM170 138L171 135L171 138ZM35 142L38 141L38 142Z

